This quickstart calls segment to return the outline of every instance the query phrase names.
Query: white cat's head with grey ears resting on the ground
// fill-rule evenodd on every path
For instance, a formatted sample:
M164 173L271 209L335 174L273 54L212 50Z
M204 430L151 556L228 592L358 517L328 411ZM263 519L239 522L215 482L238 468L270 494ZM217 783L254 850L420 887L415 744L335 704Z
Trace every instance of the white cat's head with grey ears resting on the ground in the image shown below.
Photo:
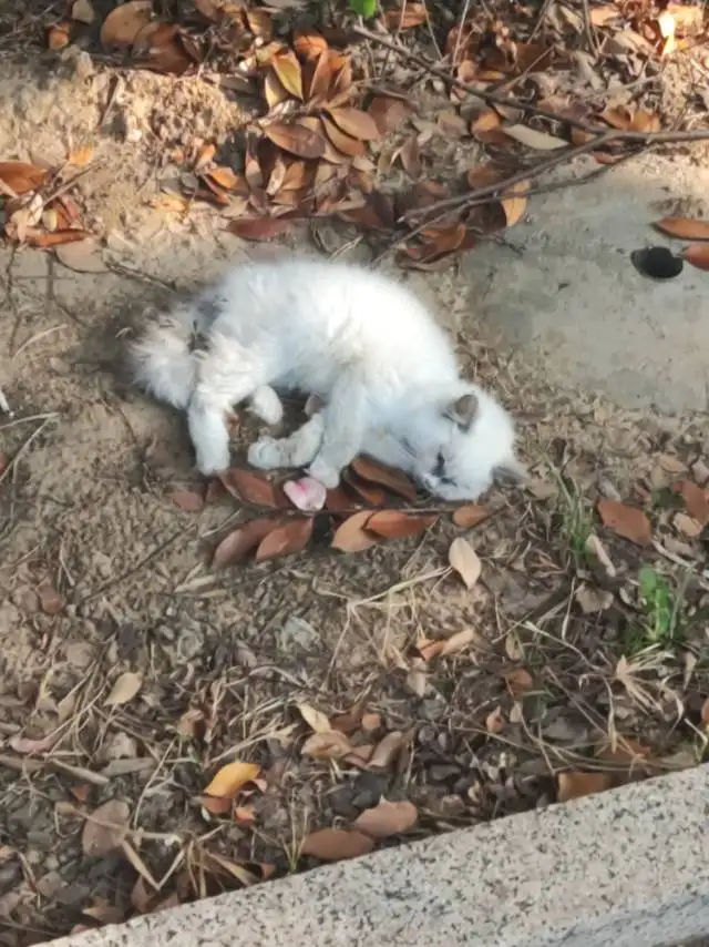
M414 478L445 500L475 500L493 482L521 482L514 427L505 409L474 385L434 399L408 432Z

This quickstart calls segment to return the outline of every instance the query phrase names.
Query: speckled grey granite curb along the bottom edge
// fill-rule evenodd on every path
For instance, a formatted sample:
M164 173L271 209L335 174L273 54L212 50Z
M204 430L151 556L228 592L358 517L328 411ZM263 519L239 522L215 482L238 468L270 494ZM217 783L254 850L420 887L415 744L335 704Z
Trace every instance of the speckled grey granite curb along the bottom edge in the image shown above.
M709 931L709 766L53 941L674 947Z

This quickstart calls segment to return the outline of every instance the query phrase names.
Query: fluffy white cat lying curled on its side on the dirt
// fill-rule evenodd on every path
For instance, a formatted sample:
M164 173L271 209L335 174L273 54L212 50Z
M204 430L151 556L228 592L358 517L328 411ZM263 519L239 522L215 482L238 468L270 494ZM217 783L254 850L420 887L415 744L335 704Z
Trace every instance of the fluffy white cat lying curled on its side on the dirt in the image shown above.
M423 304L359 267L306 258L238 265L157 319L132 356L138 383L186 409L203 474L229 465L233 406L248 400L267 424L280 420L276 389L318 395L325 407L290 437L251 445L256 467L308 467L335 487L363 452L451 500L475 499L496 474L523 472L510 416L460 378Z

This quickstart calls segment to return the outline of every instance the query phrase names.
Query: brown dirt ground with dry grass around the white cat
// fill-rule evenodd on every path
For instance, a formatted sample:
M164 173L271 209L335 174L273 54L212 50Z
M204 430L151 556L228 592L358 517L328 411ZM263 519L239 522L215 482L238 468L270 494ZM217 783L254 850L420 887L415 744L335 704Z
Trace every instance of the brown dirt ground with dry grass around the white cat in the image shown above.
M244 113L201 78L127 72L116 91L70 47L1 60L0 103L0 159L93 145L75 196L105 264L78 273L51 252L0 251L13 411L0 416L0 944L308 868L308 833L348 828L382 796L418 812L391 844L703 758L709 547L681 491L706 489L706 418L553 389L523 352L486 345L476 287L455 268L400 273L515 413L533 481L486 498L470 530L443 516L341 556L323 518L307 552L212 569L244 511L224 496L178 509L176 490L204 485L183 419L126 386L125 340L146 306L229 262L321 252L322 233L343 258L367 246L328 225L318 244L304 228L255 250L206 204L182 220L151 206L195 139L229 159ZM600 497L644 508L653 541L603 526ZM449 566L456 536L482 561L472 590ZM467 629L460 652L421 656ZM114 704L126 673L140 690ZM302 755L300 704L378 746L381 765ZM260 775L235 813L210 814L199 797L232 761ZM129 845L99 851L86 816L109 801L126 807Z

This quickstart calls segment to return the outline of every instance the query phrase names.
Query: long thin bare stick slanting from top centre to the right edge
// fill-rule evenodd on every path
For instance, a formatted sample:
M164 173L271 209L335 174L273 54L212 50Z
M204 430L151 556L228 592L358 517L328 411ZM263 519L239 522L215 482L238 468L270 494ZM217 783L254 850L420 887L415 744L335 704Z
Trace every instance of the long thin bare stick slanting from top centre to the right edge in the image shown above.
M553 122L563 122L574 129L580 129L584 132L590 132L595 135L598 135L598 133L602 131L598 125L590 125L588 124L588 122L582 122L579 119L571 118L571 115L559 115L557 112L552 112L549 109L540 109L537 105L533 105L531 102L523 102L521 99L513 99L507 95L499 95L494 92L487 92L482 89L476 89L469 82L463 82L461 79L455 79L453 75L450 75L444 69L440 69L438 65L433 65L433 63L429 62L423 57L417 55L413 52L409 52L408 49L404 49L403 47L391 42L391 40L380 35L379 33L373 33L370 30L366 30L363 27L352 27L352 32L357 33L357 35L362 37L366 40L371 40L372 42L379 43L380 45L383 45L387 49L391 49L398 55L409 60L410 62L414 62L417 65L420 65L422 69L425 69L425 71L430 72L432 75L438 75L444 82L448 82L449 85L453 85L456 89L461 89L463 92L467 92L470 95L475 95L479 99L482 99L483 102L489 102L493 105L507 105L508 108L520 109L523 112L532 112L535 115L541 115L543 119L551 119ZM603 138L603 135L599 135L599 140L600 138ZM702 129L690 132L651 133L617 130L614 133L614 139L616 141L637 141L643 142L645 144L670 144L672 142L706 141L707 139L709 139L709 129ZM590 143L590 147L595 147L594 143Z

